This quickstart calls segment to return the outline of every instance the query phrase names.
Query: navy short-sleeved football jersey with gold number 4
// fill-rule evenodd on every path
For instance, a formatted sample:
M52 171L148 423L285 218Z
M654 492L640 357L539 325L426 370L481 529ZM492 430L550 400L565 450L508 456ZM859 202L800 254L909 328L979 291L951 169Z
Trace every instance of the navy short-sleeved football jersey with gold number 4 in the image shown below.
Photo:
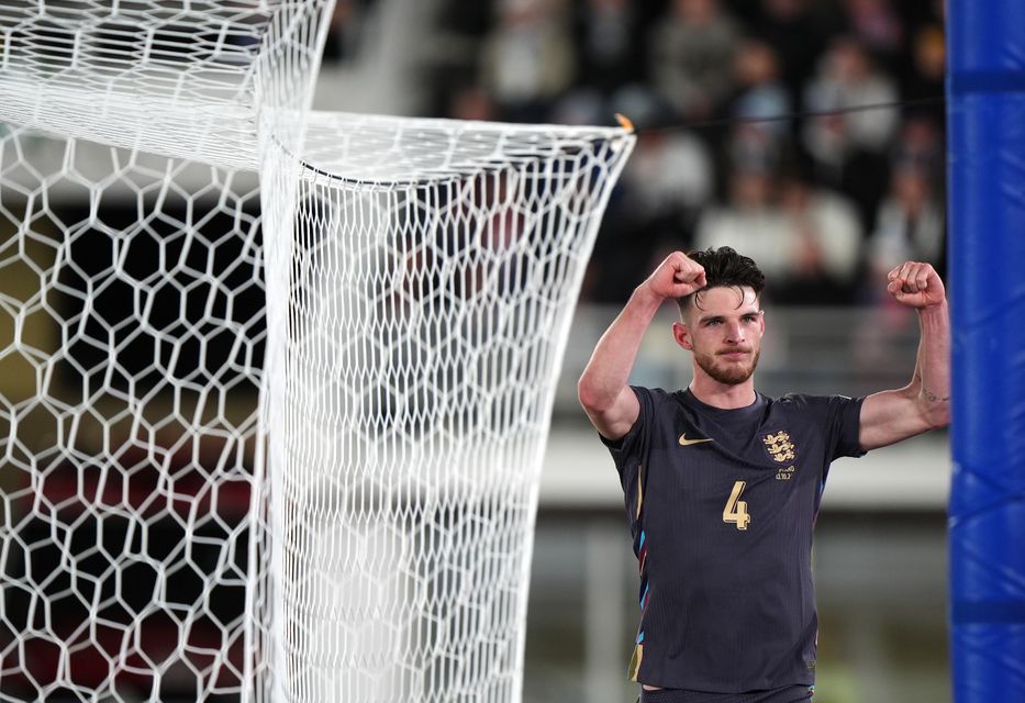
M737 410L634 388L608 442L640 568L631 679L744 693L815 679L812 532L829 462L864 454L861 399L757 394Z

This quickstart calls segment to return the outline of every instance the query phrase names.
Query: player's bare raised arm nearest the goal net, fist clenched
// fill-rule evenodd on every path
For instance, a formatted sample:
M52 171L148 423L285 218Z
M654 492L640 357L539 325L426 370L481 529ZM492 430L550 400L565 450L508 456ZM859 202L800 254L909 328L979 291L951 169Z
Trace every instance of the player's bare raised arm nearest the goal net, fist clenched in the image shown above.
M626 306L599 339L577 383L580 404L606 439L630 432L640 412L628 384L640 341L667 298L683 298L703 288L704 269L673 252L634 290Z

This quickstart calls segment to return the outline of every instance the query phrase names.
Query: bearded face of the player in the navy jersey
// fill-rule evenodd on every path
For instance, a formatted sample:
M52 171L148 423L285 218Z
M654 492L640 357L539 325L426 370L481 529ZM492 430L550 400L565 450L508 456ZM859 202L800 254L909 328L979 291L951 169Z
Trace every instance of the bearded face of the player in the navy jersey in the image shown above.
M720 383L737 386L755 372L765 320L750 288L710 288L691 302L677 341Z

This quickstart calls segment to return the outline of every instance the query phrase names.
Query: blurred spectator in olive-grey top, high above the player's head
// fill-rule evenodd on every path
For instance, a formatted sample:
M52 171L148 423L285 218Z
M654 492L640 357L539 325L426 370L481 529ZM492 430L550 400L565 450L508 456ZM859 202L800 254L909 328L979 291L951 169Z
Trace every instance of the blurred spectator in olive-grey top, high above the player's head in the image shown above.
M649 35L651 83L684 119L715 114L733 86L740 31L717 0L672 0Z

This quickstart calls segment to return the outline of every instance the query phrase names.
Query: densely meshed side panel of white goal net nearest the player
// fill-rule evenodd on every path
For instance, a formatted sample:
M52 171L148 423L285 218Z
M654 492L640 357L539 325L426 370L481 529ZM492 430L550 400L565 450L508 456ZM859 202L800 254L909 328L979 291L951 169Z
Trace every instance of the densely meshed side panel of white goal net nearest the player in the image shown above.
M308 144L268 255L281 700L519 700L555 381L630 137L315 115Z

